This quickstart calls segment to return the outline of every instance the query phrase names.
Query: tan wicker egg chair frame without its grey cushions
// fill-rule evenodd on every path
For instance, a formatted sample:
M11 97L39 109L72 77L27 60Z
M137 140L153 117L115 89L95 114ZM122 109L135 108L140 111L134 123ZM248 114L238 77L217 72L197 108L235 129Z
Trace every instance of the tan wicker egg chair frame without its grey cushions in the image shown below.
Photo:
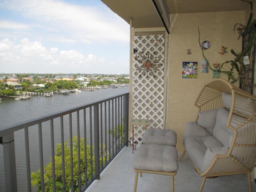
M202 88L196 99L195 106L199 108L198 113L224 107L222 92L232 94L227 127L234 131L234 137L228 153L226 155L216 155L204 172L201 172L193 162L196 172L203 177L199 191L202 192L205 180L208 177L247 174L249 189L252 192L250 172L252 172L256 163L256 97L224 79L212 80ZM237 125L237 127L234 125ZM180 161L185 153L186 150L180 157Z

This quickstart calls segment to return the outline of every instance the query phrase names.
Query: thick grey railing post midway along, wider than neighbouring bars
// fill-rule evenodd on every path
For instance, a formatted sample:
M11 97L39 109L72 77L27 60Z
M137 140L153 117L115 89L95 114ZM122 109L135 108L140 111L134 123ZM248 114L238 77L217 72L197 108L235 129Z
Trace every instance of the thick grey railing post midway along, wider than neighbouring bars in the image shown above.
M100 179L100 144L99 144L99 105L93 107L94 113L94 157L95 157L95 179Z

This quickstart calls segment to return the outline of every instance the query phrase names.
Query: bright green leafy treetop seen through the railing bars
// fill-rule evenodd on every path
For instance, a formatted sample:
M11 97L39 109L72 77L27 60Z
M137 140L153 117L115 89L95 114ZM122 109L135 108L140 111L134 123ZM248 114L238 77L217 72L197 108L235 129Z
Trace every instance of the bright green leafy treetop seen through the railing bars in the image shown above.
M74 136L72 138L72 144L73 144L73 174L74 174L74 191L78 190L78 176L81 172L81 184L84 185L87 180L91 178L91 154L90 154L90 145L86 145L86 152L84 151L84 138L80 138L80 142L78 142L77 136ZM78 144L80 144L80 170L78 170ZM61 153L61 144L56 144L55 149L55 174L56 174L56 190L62 191L62 153ZM92 151L94 151L92 146ZM86 153L86 162L84 160L84 155ZM64 159L65 159L65 180L66 180L66 189L70 189L71 186L71 163L70 163L70 140L64 142ZM108 160L108 155L107 155ZM92 168L93 168L93 174L94 174L94 163L95 157L94 154L92 155ZM105 164L105 158L103 158L103 162L100 162L101 164ZM87 168L87 172L85 173L85 170ZM86 176L85 176L86 174ZM36 172L33 172L31 174L31 184L34 187L37 187L37 191L41 191L41 175L40 170L37 170ZM52 191L52 161L48 163L44 167L44 185L45 185L45 192L51 192Z

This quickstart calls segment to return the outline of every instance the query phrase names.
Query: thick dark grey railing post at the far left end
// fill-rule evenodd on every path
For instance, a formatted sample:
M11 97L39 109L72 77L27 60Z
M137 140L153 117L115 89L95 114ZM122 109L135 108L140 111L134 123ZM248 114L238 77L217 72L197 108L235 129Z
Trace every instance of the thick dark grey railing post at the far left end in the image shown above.
M5 190L17 191L14 132L3 135Z

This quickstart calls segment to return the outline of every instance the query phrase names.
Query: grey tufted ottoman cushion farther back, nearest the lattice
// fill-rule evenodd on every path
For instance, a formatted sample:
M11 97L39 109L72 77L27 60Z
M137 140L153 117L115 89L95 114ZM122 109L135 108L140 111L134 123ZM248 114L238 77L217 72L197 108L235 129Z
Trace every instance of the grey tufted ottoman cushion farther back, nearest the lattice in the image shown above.
M170 129L148 128L142 137L142 143L144 144L176 146L176 142L177 134Z

